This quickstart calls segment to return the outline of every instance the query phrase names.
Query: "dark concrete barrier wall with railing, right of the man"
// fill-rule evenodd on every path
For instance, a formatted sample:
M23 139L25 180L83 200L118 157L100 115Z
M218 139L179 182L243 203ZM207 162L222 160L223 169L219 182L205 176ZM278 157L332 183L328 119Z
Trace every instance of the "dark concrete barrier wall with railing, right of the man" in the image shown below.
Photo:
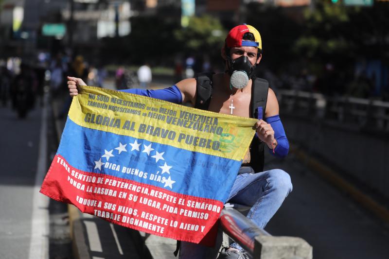
M308 157L389 198L389 102L297 90L280 90L277 98L288 138Z

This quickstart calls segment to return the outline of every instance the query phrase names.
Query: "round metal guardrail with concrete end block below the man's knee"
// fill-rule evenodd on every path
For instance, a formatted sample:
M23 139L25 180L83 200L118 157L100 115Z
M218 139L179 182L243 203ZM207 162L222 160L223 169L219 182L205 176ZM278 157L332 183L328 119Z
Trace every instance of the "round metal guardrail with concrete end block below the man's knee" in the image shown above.
M254 259L312 259L312 246L303 239L273 237L232 207L222 209L219 224Z

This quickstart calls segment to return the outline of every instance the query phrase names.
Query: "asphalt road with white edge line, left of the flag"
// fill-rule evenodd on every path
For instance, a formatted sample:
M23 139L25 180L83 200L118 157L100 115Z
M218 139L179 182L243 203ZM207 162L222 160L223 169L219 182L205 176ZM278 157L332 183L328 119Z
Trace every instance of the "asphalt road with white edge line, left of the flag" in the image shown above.
M25 119L0 108L0 259L69 259L67 206L39 193L58 144L46 97Z

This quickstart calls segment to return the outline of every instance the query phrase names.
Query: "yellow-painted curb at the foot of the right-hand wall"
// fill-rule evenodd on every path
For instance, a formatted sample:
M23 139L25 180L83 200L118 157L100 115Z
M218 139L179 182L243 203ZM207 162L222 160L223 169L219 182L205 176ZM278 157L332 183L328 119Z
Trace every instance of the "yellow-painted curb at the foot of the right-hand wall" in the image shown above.
M318 159L307 155L305 152L301 151L298 148L292 148L291 153L295 154L296 157L306 163L307 167L312 169L320 177L331 183L338 190L345 191L348 193L354 201L361 204L362 207L371 211L379 219L383 220L385 223L389 224L389 209L382 206L370 196L359 190L353 184L350 184L345 179L343 179L338 173L330 169L328 166L325 166Z

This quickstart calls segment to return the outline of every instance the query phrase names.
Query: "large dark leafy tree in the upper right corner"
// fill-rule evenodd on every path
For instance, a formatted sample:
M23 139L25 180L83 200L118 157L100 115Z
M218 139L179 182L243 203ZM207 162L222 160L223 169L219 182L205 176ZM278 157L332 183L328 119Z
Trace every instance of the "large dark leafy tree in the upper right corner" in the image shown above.
M373 7L345 6L331 0L315 2L304 12L304 31L294 52L311 62L354 66L361 58L388 58L388 3Z

